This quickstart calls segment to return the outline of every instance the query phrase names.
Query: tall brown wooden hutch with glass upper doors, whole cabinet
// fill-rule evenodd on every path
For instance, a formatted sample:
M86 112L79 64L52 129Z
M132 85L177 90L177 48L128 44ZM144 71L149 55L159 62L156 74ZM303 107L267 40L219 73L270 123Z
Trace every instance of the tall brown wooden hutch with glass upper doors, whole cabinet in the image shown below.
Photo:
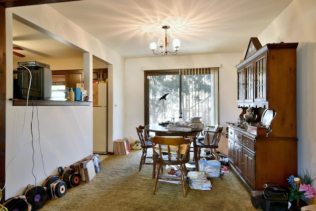
M276 111L268 135L256 136L229 125L230 166L250 190L263 189L268 182L288 187L286 178L297 175L297 46L297 42L269 43L246 54L236 66L240 117L252 107L258 115L256 124L266 109Z

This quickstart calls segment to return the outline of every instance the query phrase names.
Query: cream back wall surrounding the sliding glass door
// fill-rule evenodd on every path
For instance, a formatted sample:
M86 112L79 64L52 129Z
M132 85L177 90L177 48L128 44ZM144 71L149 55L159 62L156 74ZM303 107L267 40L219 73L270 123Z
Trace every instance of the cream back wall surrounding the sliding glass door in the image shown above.
M237 122L241 109L237 108L237 69L241 53L203 54L194 56L154 56L126 59L125 73L125 136L136 139L136 126L144 125L144 72L145 70L213 67L219 68L220 125Z

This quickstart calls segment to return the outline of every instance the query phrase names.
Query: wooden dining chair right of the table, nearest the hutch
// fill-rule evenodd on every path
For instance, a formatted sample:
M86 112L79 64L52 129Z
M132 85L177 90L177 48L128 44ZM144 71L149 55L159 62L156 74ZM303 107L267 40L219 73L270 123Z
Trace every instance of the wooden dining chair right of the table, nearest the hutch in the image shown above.
M204 136L202 138L197 138L195 146L197 148L197 160L200 160L201 148L210 149L211 158L213 160L219 160L216 149L218 148L222 131L223 127L218 126L215 130L204 130Z

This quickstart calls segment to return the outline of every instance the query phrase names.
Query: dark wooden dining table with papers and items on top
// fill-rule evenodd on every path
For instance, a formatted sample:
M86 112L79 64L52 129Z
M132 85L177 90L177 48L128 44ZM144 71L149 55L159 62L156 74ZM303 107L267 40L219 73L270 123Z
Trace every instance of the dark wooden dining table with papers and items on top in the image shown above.
M197 160L197 136L203 131L203 128L195 128L191 131L173 131L168 130L166 125L159 125L158 123L152 123L145 126L145 130L148 132L155 132L158 136L182 136L192 137L193 139L193 151L194 151L194 162L196 165L196 171L198 171L198 160Z

